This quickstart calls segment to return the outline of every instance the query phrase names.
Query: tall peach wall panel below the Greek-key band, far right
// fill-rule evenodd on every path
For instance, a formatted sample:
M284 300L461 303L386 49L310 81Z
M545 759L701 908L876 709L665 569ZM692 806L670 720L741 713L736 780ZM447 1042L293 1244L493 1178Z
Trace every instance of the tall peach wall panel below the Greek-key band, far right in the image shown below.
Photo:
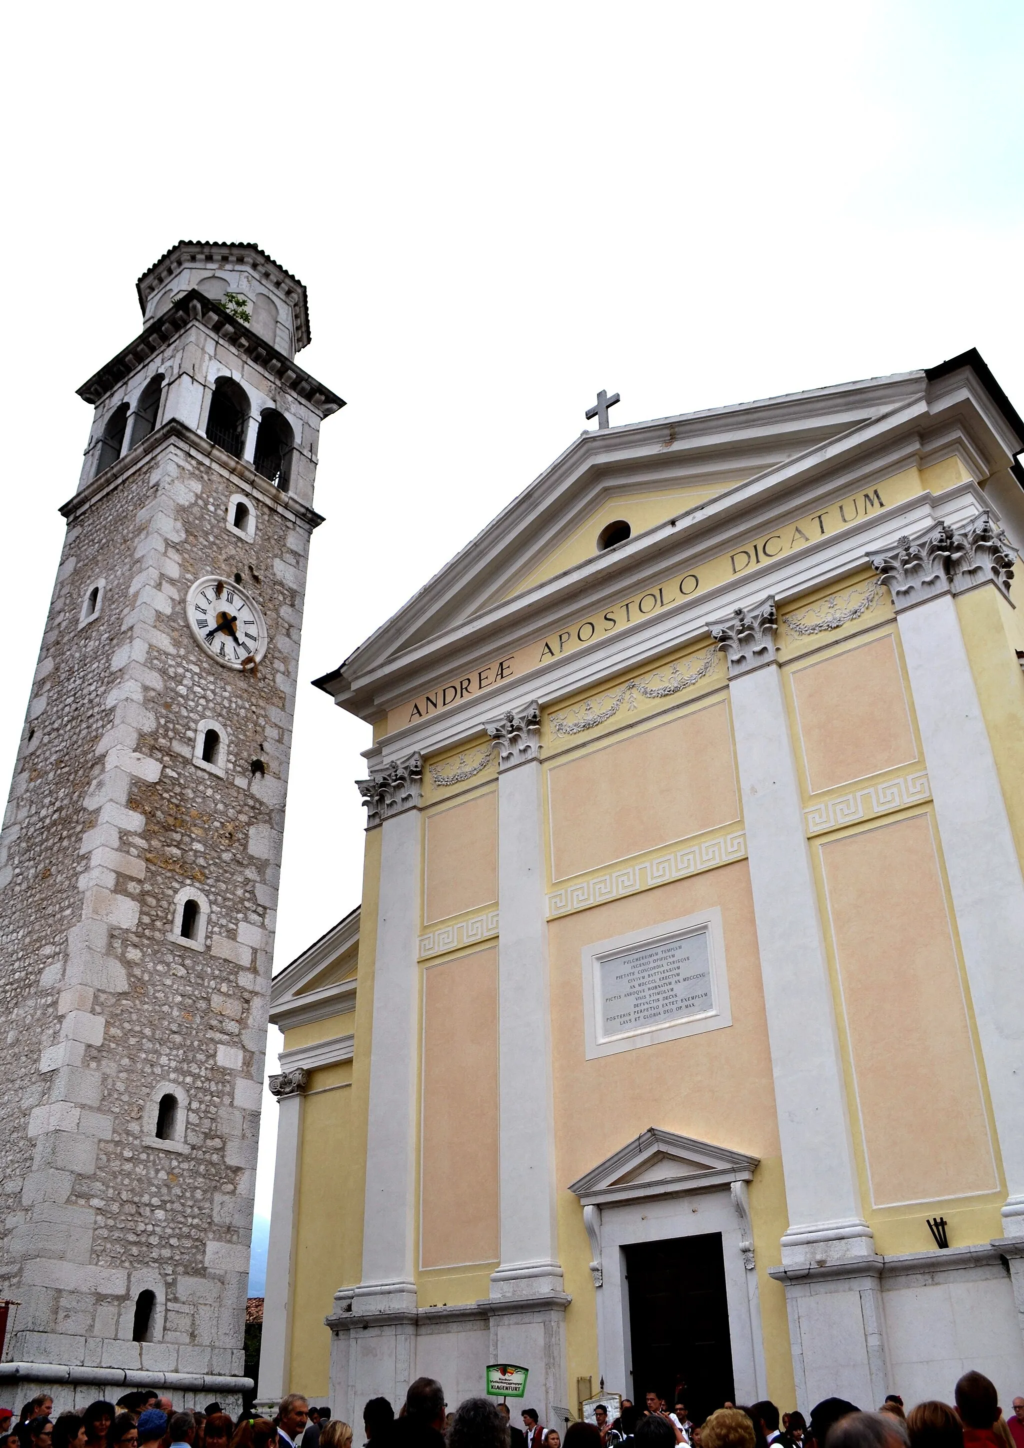
M930 817L833 840L822 863L875 1206L995 1190Z

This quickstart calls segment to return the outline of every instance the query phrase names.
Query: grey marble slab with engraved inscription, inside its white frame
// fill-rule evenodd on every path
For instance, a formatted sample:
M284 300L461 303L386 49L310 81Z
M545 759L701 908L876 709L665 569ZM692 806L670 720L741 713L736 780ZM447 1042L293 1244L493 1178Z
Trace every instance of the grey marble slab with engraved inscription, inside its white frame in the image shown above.
M605 1041L714 1009L706 930L609 956L599 969Z

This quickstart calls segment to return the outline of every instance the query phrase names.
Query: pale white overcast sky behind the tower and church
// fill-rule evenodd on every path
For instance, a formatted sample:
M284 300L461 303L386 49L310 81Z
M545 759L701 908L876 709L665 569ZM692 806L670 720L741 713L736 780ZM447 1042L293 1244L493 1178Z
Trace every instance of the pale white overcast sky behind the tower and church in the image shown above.
M74 390L137 333L135 278L179 237L301 277L302 365L349 403L323 433L302 679L600 387L625 423L976 346L1024 410L1020 0L10 14L4 779L88 433ZM359 899L367 743L299 689L276 969ZM263 1212L275 1127L270 1105Z

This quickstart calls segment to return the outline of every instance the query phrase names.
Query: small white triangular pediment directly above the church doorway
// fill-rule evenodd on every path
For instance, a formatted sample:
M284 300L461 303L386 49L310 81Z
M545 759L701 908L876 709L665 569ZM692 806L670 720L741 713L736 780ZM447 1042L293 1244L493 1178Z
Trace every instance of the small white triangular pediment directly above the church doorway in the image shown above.
M586 1203L628 1202L648 1196L677 1196L686 1190L749 1182L758 1157L717 1147L696 1137L648 1127L625 1147L573 1182Z

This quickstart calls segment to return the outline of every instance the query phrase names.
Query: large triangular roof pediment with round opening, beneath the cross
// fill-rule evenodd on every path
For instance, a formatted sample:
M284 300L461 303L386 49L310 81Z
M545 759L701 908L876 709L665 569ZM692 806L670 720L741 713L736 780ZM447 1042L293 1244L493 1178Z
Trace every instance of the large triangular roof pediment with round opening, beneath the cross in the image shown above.
M315 682L362 718L388 718L391 733L402 707L431 688L487 672L677 568L728 556L742 529L752 536L862 478L950 456L962 433L965 458L981 449L988 472L1011 466L1014 417L981 358L965 353L930 371L583 433ZM965 468L978 476L978 465ZM629 537L599 549L616 518Z

